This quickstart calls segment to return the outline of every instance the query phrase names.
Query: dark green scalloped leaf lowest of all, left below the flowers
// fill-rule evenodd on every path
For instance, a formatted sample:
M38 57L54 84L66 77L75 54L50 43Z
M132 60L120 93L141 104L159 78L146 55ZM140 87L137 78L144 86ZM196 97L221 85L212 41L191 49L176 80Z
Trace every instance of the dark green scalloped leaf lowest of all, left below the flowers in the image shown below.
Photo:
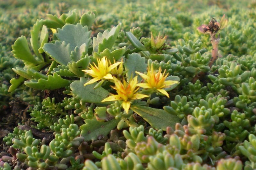
M84 120L85 124L80 126L81 136L85 141L103 138L113 130L120 120L112 119L108 122L99 122L95 118Z

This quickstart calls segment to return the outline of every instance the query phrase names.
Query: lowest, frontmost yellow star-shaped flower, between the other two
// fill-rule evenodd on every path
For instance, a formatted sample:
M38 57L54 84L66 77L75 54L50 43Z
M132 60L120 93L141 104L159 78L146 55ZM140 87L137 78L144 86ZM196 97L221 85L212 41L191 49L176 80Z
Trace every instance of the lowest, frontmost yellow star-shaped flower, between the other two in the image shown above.
M101 102L121 100L123 101L122 106L124 110L126 111L126 113L128 113L128 110L131 106L131 102L133 100L148 97L147 95L136 93L139 90L139 87L136 87L137 78L138 76L134 77L129 83L127 83L125 80L124 83L122 83L116 77L113 77L115 87L112 88L116 90L117 95L111 94L111 96L107 97Z

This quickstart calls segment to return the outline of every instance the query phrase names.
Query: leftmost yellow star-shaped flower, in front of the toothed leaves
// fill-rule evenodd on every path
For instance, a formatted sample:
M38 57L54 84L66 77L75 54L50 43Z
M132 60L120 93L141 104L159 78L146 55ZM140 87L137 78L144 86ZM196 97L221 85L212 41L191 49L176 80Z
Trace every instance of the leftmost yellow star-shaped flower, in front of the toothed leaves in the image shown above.
M95 63L93 63L94 66L90 64L91 67L89 67L90 68L89 70L82 70L86 74L89 74L90 76L93 77L93 79L85 83L84 86L88 84L92 84L99 80L106 80L106 79L113 80L113 76L110 74L111 70L122 63L122 62L116 62L114 64L111 64L106 57L102 57L101 60L97 58L97 62L98 62L98 66Z

